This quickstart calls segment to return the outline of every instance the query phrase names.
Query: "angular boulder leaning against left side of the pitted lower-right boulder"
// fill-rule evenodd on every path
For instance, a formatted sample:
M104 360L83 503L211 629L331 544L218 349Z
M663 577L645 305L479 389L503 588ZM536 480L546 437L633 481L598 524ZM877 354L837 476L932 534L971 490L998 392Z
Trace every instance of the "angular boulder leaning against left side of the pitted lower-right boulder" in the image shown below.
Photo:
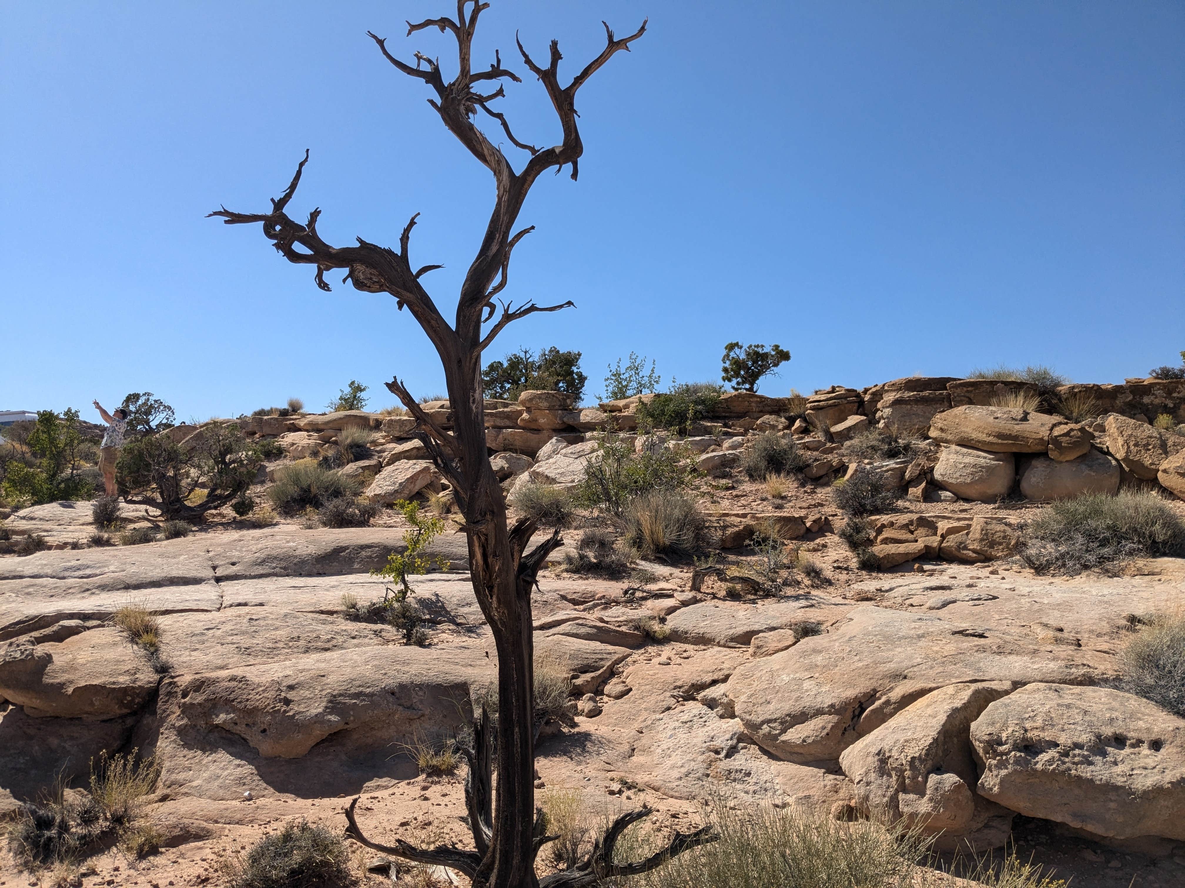
M839 757L844 773L856 785L856 799L867 816L886 816L892 823L925 834L941 832L944 844L982 830L971 845L1003 844L1011 812L975 794L979 779L972 758L971 723L989 703L1010 694L1012 682L949 684L927 694L876 731L857 740Z

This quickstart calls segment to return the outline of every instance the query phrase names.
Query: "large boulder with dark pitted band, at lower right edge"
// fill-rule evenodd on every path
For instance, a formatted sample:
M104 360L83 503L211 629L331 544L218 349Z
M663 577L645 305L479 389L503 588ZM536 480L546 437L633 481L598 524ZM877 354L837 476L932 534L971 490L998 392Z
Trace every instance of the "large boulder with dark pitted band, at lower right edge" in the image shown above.
M981 796L1113 838L1185 839L1185 719L1110 688L1037 683L971 726Z

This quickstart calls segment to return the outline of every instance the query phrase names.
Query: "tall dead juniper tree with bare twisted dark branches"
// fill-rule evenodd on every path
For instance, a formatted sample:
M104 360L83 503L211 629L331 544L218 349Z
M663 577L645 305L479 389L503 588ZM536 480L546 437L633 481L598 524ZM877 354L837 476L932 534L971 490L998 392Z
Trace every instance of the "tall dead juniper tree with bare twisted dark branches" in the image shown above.
M236 213L223 207L211 213L228 225L260 223L264 236L289 262L316 266L316 284L322 290L329 285L325 272L346 269L342 283L351 282L365 292L386 292L396 298L419 323L440 354L448 385L453 411L453 430L447 432L429 418L398 378L386 384L392 393L417 420L417 437L424 443L433 462L453 485L456 503L465 515L465 530L469 545L469 565L473 588L482 613L493 632L498 650L498 719L493 733L483 713L475 718L475 744L468 751L469 774L466 779L466 800L473 829L475 851L438 847L418 849L406 842L393 847L367 839L354 819L350 806L348 834L369 848L398 857L429 864L443 864L465 873L474 886L485 888L520 888L524 886L587 886L604 876L642 873L660 866L670 855L711 841L705 828L692 834L675 834L670 847L638 863L616 866L614 845L629 824L648 811L626 813L598 839L589 857L576 868L553 874L539 882L534 875L534 860L539 848L552 836L543 835L542 818L534 809L534 729L533 729L533 665L531 638L531 588L536 574L547 554L561 542L558 530L526 552L534 534L533 521L521 520L507 527L502 490L489 466L486 450L481 355L507 324L537 311L558 311L572 305L537 305L533 302L514 308L513 303L495 297L506 288L511 251L533 226L514 231L515 220L527 192L539 175L551 168L558 173L571 167L577 178L577 163L583 153L576 126L576 92L620 50L646 31L646 22L629 37L617 39L606 25L604 50L576 75L571 83L559 83L559 45L551 41L546 65L536 64L515 38L523 64L543 83L547 97L559 117L563 139L550 148L537 148L520 141L511 131L506 117L494 110L495 99L505 96L505 81L521 83L519 77L502 66L498 52L488 70L474 71L472 66L473 34L478 17L488 4L479 0L457 0L456 19L438 18L408 22L408 34L425 28L449 32L456 40L457 71L451 81L444 79L438 59L415 53L415 65L391 54L386 41L371 33L384 58L399 72L423 81L435 94L428 103L440 115L448 130L494 176L494 208L489 215L485 238L461 285L453 326L444 320L421 278L440 265L412 269L408 253L412 215L399 238L399 249L378 246L358 238L357 246L332 246L316 231L320 210L313 210L302 224L286 213L288 202L300 184L301 172L308 162L308 152L297 165L292 184L278 200L271 201L267 213ZM497 89L482 92L489 82ZM486 86L489 89L489 86ZM511 161L476 126L479 111L495 121L506 139L530 159L515 173ZM495 318L494 315L498 314ZM487 327L488 324L488 327ZM492 748L493 747L493 752ZM498 792L492 791L492 758L497 757ZM357 799L354 800L357 803Z

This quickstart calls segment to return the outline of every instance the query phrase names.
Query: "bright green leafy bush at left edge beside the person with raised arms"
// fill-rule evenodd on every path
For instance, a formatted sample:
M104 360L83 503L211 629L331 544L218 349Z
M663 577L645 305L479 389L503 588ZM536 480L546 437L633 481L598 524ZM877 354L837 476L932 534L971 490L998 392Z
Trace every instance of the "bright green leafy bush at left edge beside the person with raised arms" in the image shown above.
M5 463L0 494L9 502L38 504L83 500L94 488L79 475L88 453L77 410L39 410L37 422L21 435L19 457Z

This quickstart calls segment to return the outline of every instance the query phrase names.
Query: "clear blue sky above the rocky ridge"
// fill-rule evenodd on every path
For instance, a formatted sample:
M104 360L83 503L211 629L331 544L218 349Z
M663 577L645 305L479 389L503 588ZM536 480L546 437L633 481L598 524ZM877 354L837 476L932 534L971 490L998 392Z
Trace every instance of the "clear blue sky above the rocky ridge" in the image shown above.
M0 408L84 408L150 390L182 418L350 379L372 406L442 388L387 296L282 260L257 226L306 148L289 207L326 239L396 244L451 315L489 174L366 37L440 56L403 20L453 4L288 0L2 4ZM579 94L581 179L540 180L515 300L578 305L507 329L584 353L595 394L630 350L664 382L719 378L729 340L793 354L762 391L865 386L1045 362L1122 381L1185 348L1185 5L942 0L494 0L476 62L513 45L571 76L649 15ZM557 126L527 75L515 134ZM521 152L507 147L520 163ZM515 156L519 155L519 156ZM340 275L338 275L340 277ZM335 283L337 278L332 278Z

